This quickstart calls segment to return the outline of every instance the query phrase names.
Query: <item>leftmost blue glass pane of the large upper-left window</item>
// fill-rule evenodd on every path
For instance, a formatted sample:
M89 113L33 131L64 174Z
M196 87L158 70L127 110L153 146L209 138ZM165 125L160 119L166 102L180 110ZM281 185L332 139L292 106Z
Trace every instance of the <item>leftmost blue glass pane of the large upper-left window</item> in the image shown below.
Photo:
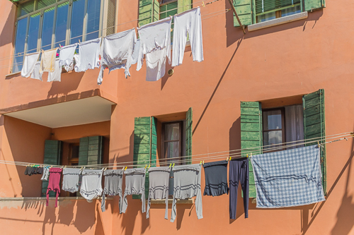
M27 17L17 22L15 54L13 55L13 73L21 71L23 63L23 52L25 51L25 32L27 30ZM18 53L21 53L18 55Z

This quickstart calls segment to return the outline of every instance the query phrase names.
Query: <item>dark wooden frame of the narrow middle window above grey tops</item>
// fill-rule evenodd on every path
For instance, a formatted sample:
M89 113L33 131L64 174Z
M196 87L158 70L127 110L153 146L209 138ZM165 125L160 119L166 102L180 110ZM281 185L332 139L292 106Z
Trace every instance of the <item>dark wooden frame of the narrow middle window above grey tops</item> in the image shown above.
M165 126L168 125L168 124L173 124L173 123L178 123L179 124L179 138L178 140L165 140ZM178 147L178 161L181 161L184 159L184 156L183 156L183 140L185 138L183 138L184 136L184 132L183 132L183 121L180 120L180 121L166 121L166 122L162 122L161 123L161 158L159 158L159 160L163 163L166 163L168 162L169 158L167 158L165 156L165 143L169 143L169 142L176 142L176 141L179 141L179 147ZM175 159L176 160L176 159ZM184 162L178 162L178 164L184 164Z

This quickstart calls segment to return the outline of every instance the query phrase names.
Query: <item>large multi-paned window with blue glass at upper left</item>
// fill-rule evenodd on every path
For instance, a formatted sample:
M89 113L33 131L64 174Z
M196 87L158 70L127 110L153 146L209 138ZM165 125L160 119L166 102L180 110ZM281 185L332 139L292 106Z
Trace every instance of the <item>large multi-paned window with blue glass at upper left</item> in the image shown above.
M104 4L103 0L30 0L20 4L11 72L21 71L26 53L114 33L114 1Z

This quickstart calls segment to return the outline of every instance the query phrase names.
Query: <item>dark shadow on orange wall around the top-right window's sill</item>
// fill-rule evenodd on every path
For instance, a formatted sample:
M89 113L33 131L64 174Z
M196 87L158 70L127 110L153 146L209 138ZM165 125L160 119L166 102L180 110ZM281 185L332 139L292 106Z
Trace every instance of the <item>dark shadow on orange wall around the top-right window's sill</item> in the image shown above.
M227 9L231 8L229 1L225 1L225 8L227 8ZM232 44L234 44L234 42L236 42L237 40L239 40L242 37L244 37L244 39L247 39L247 38L251 38L251 37L257 37L260 35L266 35L268 33L279 32L282 30L288 30L290 28L297 28L300 26L303 26L302 31L304 31L307 28L307 23L309 21L314 21L314 24L312 26L309 26L309 27L314 28L317 20L319 20L319 18L321 18L323 13L324 13L323 9L320 9L318 11L314 11L312 13L309 13L307 19L296 20L291 23L285 23L282 25L277 25L277 26L265 28L262 30L256 30L253 32L249 32L246 28L246 35L244 35L244 32L242 32L241 28L234 27L234 14L232 13L232 11L230 11L229 13L225 14L225 18L226 18L225 28L226 28L226 32L227 32L227 47L231 46Z

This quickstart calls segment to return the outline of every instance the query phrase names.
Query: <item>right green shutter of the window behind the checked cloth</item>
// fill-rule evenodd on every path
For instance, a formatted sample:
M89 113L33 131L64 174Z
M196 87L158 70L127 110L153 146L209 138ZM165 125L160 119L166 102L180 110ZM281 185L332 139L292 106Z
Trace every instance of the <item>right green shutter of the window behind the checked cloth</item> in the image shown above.
M324 118L324 89L304 95L302 97L302 105L304 107L304 140L312 138L324 138L326 136L326 122ZM321 140L319 143L325 143ZM307 143L308 145L316 145L317 143ZM326 145L321 147L321 171L322 186L324 187L324 195L327 193L327 172L326 172Z

